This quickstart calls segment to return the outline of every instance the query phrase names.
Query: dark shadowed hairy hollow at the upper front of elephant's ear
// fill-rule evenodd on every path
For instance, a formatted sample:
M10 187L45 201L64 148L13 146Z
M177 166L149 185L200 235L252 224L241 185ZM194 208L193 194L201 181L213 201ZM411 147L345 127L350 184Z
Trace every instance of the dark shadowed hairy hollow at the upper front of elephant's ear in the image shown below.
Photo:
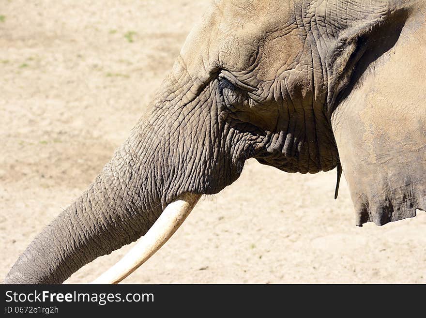
M345 99L368 66L389 51L401 34L408 14L396 11L382 19L344 30L325 54L327 112Z

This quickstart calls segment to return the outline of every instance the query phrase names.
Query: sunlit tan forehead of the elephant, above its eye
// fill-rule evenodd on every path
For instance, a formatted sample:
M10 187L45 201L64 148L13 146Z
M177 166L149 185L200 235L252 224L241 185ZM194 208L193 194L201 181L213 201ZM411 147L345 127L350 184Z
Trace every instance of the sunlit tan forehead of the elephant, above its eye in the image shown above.
M201 81L216 68L245 72L255 67L269 80L302 50L291 1L216 1L192 30L181 51L186 70ZM291 14L291 12L293 12Z

